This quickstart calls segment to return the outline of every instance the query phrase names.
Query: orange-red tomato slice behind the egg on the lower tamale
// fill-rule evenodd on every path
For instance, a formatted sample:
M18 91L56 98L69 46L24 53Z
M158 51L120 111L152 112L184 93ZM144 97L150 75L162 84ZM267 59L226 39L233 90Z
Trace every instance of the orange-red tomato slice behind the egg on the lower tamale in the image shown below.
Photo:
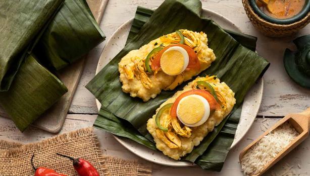
M221 106L220 104L216 101L216 99L209 93L204 90L190 90L182 93L176 101L173 103L171 110L170 110L170 116L171 118L176 118L177 117L177 107L181 99L183 99L186 96L190 95L198 95L203 98L205 98L206 101L208 101L210 105L210 110L220 110Z

